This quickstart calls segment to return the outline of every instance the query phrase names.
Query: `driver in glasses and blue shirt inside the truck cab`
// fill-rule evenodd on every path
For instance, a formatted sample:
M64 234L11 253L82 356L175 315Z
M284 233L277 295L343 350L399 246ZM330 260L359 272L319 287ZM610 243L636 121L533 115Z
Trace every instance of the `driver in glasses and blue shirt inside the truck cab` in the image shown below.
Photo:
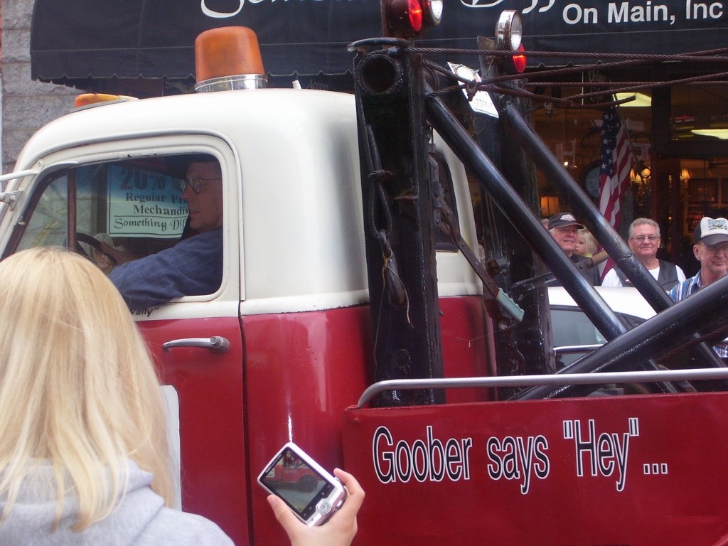
M109 279L130 309L147 309L181 296L199 296L218 289L223 268L223 186L220 164L213 157L195 157L182 181L182 199L189 209L194 236L144 258L101 243L100 250L119 264Z

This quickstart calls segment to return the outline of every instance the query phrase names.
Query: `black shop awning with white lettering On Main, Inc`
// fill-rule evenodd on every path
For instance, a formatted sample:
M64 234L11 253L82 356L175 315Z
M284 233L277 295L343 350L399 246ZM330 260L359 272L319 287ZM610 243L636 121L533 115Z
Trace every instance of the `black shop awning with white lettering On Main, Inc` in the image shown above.
M641 4L445 0L442 25L417 44L474 48L476 36L493 36L503 9L521 9L531 51L673 54L728 44L721 2ZM379 34L379 0L36 0L31 74L96 90L104 79L194 82L195 37L228 25L256 31L269 74L344 74L352 66L347 44Z

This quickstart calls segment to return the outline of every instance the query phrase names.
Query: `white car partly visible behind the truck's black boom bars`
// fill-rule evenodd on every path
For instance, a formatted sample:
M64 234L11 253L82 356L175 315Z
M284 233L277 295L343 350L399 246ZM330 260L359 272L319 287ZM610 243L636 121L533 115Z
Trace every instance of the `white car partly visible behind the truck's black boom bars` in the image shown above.
M596 286L596 291L616 314L623 317L630 328L654 317L654 309L636 288ZM553 346L557 368L578 360L587 352L606 343L582 309L569 296L566 289L554 286L548 289L553 328Z

